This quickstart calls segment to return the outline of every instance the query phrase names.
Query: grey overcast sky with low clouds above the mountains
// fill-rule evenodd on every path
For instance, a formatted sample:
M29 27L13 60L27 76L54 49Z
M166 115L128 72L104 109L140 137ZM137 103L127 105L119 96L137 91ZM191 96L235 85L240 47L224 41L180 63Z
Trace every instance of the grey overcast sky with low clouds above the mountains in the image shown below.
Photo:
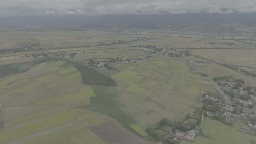
M256 0L0 0L5 15L256 12Z

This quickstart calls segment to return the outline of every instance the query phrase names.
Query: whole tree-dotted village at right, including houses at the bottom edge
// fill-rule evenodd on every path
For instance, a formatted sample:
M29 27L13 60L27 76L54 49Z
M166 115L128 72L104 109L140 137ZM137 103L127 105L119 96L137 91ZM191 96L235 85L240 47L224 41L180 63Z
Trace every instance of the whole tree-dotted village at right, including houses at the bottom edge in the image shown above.
M179 144L181 140L195 142L198 135L210 137L197 128L203 122L203 117L221 121L229 126L233 126L236 122L243 122L245 125L240 126L238 131L256 135L255 90L250 86L244 86L243 80L234 79L232 76L214 77L213 79L230 96L232 104L227 103L220 93L204 93L201 96L203 103L201 109L197 109L192 115L188 113L179 122L164 123L174 128L169 135L165 136L162 143ZM200 115L200 113L202 114ZM159 124L163 125L161 121Z

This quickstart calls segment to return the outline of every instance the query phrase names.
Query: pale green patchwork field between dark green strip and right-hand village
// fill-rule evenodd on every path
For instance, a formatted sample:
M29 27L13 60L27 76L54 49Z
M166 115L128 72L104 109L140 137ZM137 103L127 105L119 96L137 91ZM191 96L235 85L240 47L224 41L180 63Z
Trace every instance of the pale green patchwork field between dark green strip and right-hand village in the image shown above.
M142 126L163 117L182 118L188 109L201 105L196 100L199 93L214 90L207 79L192 75L185 63L170 57L154 57L119 70L111 76L119 82L115 99Z

